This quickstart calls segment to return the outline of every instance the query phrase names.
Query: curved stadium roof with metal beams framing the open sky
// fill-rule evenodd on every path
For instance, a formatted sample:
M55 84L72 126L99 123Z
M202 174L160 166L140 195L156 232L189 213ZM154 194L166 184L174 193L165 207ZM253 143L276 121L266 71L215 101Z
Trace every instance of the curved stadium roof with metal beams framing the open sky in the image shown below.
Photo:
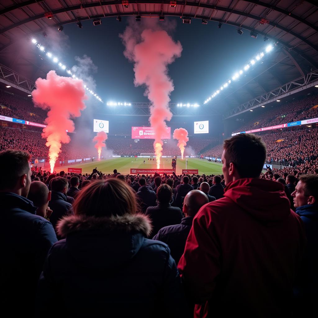
M45 60L33 50L21 49L22 41L48 28L88 19L141 15L217 21L243 31L254 31L259 37L277 44L262 64L251 68L244 77L232 83L231 90L213 100L211 109L229 111L318 68L317 1L272 3L271 0L2 0L0 61L31 80L44 77L47 73ZM207 96L210 93L207 92Z

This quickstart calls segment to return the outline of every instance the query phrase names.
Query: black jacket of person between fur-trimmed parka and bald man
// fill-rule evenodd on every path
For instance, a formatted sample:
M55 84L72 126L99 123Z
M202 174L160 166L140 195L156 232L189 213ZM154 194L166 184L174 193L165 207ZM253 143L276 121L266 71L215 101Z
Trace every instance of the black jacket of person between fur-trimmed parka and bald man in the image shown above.
M182 219L180 208L171 206L170 203L158 203L157 206L149 206L146 215L150 218L153 226L150 237L153 237L164 226L180 224Z

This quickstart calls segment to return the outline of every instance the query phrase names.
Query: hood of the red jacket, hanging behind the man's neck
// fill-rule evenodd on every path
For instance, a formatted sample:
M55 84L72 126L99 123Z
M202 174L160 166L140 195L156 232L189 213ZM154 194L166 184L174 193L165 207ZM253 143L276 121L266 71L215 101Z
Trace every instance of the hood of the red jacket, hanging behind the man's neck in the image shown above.
M233 181L224 189L224 196L261 222L277 222L290 214L290 202L281 183L244 178Z

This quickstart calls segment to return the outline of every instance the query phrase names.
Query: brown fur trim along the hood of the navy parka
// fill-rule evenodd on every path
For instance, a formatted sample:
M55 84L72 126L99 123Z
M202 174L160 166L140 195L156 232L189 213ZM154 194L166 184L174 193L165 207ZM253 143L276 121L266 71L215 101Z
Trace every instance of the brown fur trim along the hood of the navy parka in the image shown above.
M126 233L141 232L148 237L152 231L152 226L148 217L140 213L100 218L86 215L70 215L62 218L57 225L57 232L62 237L72 232L88 230L124 231Z

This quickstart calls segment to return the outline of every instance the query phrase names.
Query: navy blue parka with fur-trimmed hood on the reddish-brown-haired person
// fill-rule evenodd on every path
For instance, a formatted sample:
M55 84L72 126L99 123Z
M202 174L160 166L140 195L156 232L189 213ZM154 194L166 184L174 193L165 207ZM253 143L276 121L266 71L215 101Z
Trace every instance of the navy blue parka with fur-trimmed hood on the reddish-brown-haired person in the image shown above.
M179 317L183 294L169 247L146 239L142 214L67 216L38 288L38 316Z

